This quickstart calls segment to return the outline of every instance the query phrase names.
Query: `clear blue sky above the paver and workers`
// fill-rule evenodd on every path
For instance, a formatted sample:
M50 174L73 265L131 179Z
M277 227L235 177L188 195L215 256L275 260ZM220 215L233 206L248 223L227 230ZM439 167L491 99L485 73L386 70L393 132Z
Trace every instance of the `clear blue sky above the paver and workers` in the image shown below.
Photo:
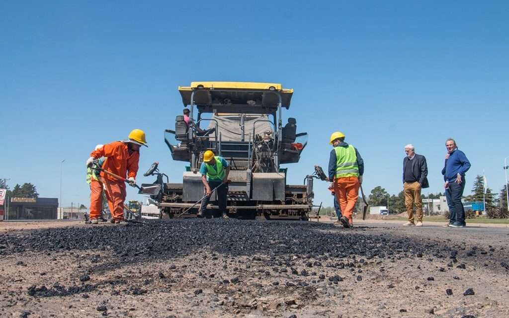
M327 165L336 130L365 162L364 188L402 190L404 146L428 159L442 191L445 139L503 186L509 93L507 2L2 2L0 178L88 206L84 162L98 143L144 129L138 182L153 161L171 182L184 163L164 143L179 85L280 82L293 88L309 143L289 182ZM330 205L326 183L316 202ZM139 198L134 189L128 199Z

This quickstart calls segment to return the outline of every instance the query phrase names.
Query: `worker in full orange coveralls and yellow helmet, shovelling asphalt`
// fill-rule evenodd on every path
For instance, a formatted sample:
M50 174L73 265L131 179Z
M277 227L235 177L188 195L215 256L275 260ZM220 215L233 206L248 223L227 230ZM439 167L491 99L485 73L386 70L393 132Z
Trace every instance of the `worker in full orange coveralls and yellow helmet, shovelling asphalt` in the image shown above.
M127 178L131 186L136 184L138 172L139 148L147 146L145 132L134 129L129 133L126 140L114 141L105 144L102 148L90 153L87 166L91 166L95 159L105 157L102 165L103 170L110 171L120 177ZM124 220L124 200L126 198L126 186L124 181L105 174L101 171L101 179L104 184L108 207L111 212L111 223L127 225Z

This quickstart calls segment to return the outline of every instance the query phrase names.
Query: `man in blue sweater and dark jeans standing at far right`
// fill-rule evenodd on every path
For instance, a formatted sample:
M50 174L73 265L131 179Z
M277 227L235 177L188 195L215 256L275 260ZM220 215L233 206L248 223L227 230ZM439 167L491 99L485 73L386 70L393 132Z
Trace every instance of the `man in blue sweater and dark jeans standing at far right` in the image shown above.
M450 213L449 224L446 226L465 227L465 209L461 198L465 189L465 172L470 168L470 161L461 150L458 150L453 138L445 141L445 148L447 148L447 154L442 175L444 176L445 197Z

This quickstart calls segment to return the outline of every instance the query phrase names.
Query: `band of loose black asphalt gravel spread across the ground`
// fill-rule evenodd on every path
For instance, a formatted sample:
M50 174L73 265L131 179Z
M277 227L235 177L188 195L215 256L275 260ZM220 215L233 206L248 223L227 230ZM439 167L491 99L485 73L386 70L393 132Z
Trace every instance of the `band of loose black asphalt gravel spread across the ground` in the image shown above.
M493 255L496 252L492 246L487 249L473 244L423 242L418 238L372 233L367 227L343 229L330 223L174 219L149 220L147 224L130 223L125 227L60 227L33 230L25 235L0 234L0 255L25 251L52 253L111 250L115 257L108 259L106 264L102 262L95 269L105 270L108 266L118 267L119 262L128 265L171 259L200 253L203 249L229 256L249 256L263 252L269 256L267 265L278 266L293 266L294 262L289 261L289 256L295 255L303 258L308 268L357 267L357 264L374 258L414 257L443 259L444 265L448 263L450 267L453 263L459 263L460 255L469 258L479 254ZM349 263L334 263L334 259L346 257L351 258ZM99 255L94 255L91 262L97 263L99 258ZM507 270L507 260L501 260L499 264ZM465 269L466 265L460 263L456 267ZM301 275L305 276L305 273ZM81 281L89 279L88 275L80 277Z

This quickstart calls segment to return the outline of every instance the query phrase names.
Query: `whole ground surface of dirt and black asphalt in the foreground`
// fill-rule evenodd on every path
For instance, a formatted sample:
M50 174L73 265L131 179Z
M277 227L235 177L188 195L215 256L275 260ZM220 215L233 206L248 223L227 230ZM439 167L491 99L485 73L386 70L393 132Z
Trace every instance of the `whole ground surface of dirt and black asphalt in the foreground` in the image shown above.
M507 227L147 222L0 222L0 316L509 316Z

